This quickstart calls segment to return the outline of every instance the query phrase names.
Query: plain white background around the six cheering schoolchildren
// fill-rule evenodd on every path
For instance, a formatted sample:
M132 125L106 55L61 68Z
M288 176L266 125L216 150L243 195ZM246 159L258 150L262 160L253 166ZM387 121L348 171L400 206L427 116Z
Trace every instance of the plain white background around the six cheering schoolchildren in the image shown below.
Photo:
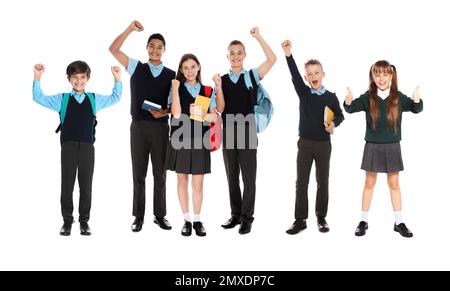
M450 27L447 1L10 1L0 9L0 269L118 270L429 270L450 269L448 245L448 104ZM88 90L109 94L113 85L108 52L129 23L133 33L123 51L142 61L149 34L167 40L165 65L176 69L182 54L196 54L203 79L225 73L226 48L233 39L247 46L246 68L264 55L249 30L258 25L278 62L263 84L276 115L260 135L255 223L251 234L222 230L230 207L221 152L212 155L205 179L202 220L208 236L184 238L176 176L168 172L167 218L172 231L152 223L152 179L147 182L147 220L132 233L132 175L129 146L129 76L123 70L120 103L98 114L96 165L91 212L92 237L60 237L60 145L54 133L58 114L32 101L33 65L42 62L46 94L70 91L66 66L77 59L92 69ZM364 114L346 114L332 137L328 222L315 225L314 170L310 183L308 229L297 236L293 222L298 98L281 42L290 38L299 66L322 61L324 84L341 102L345 87L355 95L368 86L370 66L387 59L398 68L399 88L411 96L421 86L424 111L403 116L401 173L404 221L414 232L394 233L394 216L380 175L367 236L356 238L364 172L359 169ZM314 169L314 168L313 168ZM151 170L149 170L151 177ZM75 188L75 201L78 188ZM77 205L77 203L76 203ZM77 210L75 211L77 217Z

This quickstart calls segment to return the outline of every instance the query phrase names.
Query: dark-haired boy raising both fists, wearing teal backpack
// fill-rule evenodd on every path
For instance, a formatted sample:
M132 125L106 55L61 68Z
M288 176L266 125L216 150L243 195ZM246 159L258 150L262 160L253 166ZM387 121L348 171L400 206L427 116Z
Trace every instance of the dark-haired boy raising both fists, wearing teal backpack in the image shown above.
M80 231L81 235L91 235L88 221L94 174L96 112L120 100L120 68L111 68L115 83L112 94L107 96L85 91L91 74L91 69L85 62L75 61L67 67L67 78L73 88L71 93L44 95L40 82L44 71L44 65L34 66L33 100L61 115L58 131L61 130L61 212L64 225L60 235L71 234L74 222L73 188L77 172L80 187Z

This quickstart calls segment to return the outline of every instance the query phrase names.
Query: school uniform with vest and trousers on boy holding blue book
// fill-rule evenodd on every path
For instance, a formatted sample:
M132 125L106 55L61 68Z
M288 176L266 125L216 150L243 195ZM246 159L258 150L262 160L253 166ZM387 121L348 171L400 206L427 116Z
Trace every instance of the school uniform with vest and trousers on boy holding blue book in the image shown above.
M168 117L155 119L141 109L145 100L167 109L168 96L175 72L161 63L141 63L129 58L127 71L131 76L130 144L133 166L133 215L145 216L145 178L149 157L153 170L153 214L157 218L166 216L166 171L164 163L169 140Z

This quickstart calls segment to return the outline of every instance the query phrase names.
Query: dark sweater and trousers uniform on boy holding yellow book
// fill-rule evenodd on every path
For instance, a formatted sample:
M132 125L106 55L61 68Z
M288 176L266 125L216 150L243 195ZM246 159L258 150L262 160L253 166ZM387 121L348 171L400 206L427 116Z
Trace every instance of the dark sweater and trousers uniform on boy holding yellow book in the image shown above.
M294 57L286 57L295 91L300 99L299 140L297 143L297 182L295 219L308 218L308 185L312 163L316 165L316 216L325 218L328 213L328 180L330 172L331 139L325 130L324 110L328 106L334 112L334 124L344 120L336 94L322 88L317 91L303 81Z

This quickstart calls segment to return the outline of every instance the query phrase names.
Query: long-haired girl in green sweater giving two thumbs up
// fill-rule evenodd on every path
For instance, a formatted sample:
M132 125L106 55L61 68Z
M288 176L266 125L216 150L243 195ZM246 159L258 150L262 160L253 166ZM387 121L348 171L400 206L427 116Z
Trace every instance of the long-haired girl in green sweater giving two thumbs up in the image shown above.
M348 88L344 102L345 111L366 113L366 145L361 169L366 171L366 182L362 197L362 217L355 235L363 236L368 229L368 212L372 201L377 173L386 173L394 209L394 231L403 237L412 237L413 233L402 221L401 192L399 172L403 171L400 148L402 138L402 114L423 110L418 87L412 99L398 90L397 70L388 61L378 61L369 71L369 91L353 100Z

